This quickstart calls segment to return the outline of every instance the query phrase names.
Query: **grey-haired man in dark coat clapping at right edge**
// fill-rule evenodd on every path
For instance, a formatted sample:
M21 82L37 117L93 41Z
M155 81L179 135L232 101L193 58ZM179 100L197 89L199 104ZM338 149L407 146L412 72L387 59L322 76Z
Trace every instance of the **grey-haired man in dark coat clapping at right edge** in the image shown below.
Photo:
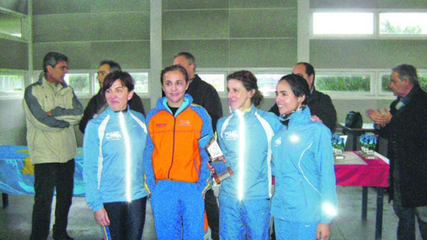
M390 85L397 99L390 111L368 110L388 139L389 189L394 213L399 218L398 240L415 240L415 217L427 240L427 94L418 82L417 70L408 64L393 68Z

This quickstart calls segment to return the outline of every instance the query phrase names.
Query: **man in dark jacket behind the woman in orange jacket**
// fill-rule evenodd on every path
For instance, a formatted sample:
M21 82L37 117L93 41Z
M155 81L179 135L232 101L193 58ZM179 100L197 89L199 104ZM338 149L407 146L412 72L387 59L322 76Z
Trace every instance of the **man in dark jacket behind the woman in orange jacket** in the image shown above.
M212 118L213 132L215 132L216 122L222 117L221 100L215 88L211 84L201 80L197 74L194 74L196 70L196 61L191 53L180 52L176 54L173 64L181 65L187 71L188 78L190 79L190 86L186 93L193 97L194 103L201 105L209 113ZM218 204L216 203L212 190L208 190L205 193L205 210L208 217L208 224L211 228L211 238L213 240L219 240Z

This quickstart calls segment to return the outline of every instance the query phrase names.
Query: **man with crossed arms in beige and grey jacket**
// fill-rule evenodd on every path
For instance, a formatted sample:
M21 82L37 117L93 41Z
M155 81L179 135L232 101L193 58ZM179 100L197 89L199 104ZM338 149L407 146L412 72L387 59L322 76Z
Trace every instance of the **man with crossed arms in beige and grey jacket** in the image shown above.
M49 52L37 82L25 89L23 107L27 143L34 164L34 205L31 240L49 236L50 211L56 189L53 239L72 240L66 232L74 188L74 157L77 142L74 125L83 108L73 89L64 82L68 58Z

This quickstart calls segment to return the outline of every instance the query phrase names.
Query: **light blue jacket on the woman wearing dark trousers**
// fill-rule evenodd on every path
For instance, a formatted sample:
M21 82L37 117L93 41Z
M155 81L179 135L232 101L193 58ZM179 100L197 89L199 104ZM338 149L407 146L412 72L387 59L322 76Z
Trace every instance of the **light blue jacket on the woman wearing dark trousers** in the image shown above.
M120 119L121 118L121 119ZM107 108L89 121L83 138L83 179L86 202L97 211L102 203L130 202L144 190L144 116L129 109Z

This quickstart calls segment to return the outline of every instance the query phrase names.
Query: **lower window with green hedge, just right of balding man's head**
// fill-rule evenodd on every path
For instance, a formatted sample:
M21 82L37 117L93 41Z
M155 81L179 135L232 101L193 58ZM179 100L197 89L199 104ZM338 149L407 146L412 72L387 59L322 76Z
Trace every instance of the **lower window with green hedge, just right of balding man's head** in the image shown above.
M319 91L371 92L372 74L316 74L314 85Z

